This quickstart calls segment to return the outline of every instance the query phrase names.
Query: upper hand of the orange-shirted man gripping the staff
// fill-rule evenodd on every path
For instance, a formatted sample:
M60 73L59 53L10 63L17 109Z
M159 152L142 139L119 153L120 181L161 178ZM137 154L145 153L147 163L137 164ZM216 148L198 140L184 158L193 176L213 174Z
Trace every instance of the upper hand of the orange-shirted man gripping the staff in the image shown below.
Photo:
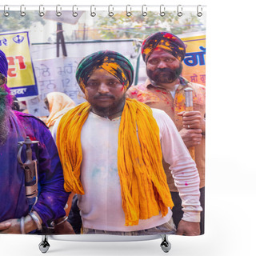
M206 120L199 111L183 111L178 113L182 116L182 124L186 129L201 129L205 132Z

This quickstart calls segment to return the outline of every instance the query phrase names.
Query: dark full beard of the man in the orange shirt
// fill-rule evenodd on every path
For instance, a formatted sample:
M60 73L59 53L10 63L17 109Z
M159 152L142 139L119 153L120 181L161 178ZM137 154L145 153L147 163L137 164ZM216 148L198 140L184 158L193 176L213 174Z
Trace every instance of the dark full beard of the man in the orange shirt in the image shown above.
M182 74L182 63L176 70L171 70L170 68L163 68L157 70L146 70L146 74L152 82L156 84L162 83L172 83L174 82L180 74Z

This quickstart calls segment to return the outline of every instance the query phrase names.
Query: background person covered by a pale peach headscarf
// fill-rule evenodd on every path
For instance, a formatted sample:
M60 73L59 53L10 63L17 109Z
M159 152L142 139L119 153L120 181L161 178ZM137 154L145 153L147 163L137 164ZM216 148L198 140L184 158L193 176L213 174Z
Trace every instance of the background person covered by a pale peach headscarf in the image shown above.
M50 112L46 119L46 126L49 127L50 131L52 131L56 120L75 106L72 98L61 92L47 94L44 102Z

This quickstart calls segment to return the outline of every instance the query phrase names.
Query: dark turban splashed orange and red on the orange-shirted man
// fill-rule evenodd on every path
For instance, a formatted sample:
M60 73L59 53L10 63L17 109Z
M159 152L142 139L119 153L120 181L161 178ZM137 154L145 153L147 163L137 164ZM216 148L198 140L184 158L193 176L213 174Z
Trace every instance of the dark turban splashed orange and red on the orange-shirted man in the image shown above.
M186 47L184 42L174 34L168 32L157 32L151 34L142 43L142 58L147 62L154 50L161 49L178 58L180 62L185 57Z

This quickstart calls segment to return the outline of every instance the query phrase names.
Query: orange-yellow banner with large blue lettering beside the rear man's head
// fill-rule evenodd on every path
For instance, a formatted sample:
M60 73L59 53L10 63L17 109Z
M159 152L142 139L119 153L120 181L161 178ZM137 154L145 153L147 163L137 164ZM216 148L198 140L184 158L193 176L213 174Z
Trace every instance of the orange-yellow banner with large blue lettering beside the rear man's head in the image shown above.
M206 85L206 35L181 38L186 45L182 76L190 82Z

